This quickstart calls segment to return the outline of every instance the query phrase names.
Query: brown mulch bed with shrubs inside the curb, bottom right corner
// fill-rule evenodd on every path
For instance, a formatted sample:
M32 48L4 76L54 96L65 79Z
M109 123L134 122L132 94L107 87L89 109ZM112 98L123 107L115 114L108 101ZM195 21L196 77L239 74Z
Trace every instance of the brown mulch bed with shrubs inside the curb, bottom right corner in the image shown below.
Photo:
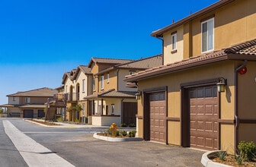
M212 160L213 162L218 162L225 165L239 166L239 167L256 166L256 162L242 162L242 165L238 165L238 163L235 161L235 156L231 156L231 155L226 156L224 161L220 160L219 157L216 157Z

